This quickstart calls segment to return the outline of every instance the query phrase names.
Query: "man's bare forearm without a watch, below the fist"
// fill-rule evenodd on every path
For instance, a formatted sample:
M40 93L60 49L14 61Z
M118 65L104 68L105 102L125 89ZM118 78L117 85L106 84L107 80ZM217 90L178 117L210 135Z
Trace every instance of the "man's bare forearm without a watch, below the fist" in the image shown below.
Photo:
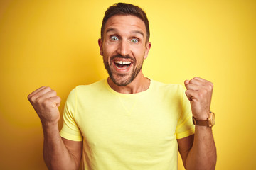
M48 169L78 169L80 162L68 152L59 135L58 123L43 125L43 158Z

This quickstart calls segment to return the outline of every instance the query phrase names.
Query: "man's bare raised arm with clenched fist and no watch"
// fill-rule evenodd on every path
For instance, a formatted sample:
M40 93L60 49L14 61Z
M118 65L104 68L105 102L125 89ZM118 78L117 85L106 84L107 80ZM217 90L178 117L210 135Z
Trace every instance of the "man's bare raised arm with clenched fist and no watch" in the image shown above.
M60 137L60 97L50 87L42 86L28 95L43 127L43 158L48 169L78 169L82 156L82 142Z

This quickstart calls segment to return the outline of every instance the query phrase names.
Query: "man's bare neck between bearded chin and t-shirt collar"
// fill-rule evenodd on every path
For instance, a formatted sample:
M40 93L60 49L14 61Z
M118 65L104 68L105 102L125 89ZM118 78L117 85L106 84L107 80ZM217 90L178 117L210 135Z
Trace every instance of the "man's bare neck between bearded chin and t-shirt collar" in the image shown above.
M137 77L135 77L135 79L127 86L117 86L117 84L114 84L110 77L107 78L107 83L114 91L121 94L136 94L149 89L150 80L144 77L142 72L139 72Z

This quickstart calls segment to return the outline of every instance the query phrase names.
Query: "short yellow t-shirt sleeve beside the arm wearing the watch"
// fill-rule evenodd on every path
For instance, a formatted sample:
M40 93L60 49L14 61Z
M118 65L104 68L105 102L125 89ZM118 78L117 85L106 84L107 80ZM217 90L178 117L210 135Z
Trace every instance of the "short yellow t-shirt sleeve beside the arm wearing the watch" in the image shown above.
M176 127L176 138L181 139L183 137L188 137L195 133L195 126L192 122L192 112L191 105L185 94L185 89L183 86L179 87L181 96L181 116L178 119L178 124Z

